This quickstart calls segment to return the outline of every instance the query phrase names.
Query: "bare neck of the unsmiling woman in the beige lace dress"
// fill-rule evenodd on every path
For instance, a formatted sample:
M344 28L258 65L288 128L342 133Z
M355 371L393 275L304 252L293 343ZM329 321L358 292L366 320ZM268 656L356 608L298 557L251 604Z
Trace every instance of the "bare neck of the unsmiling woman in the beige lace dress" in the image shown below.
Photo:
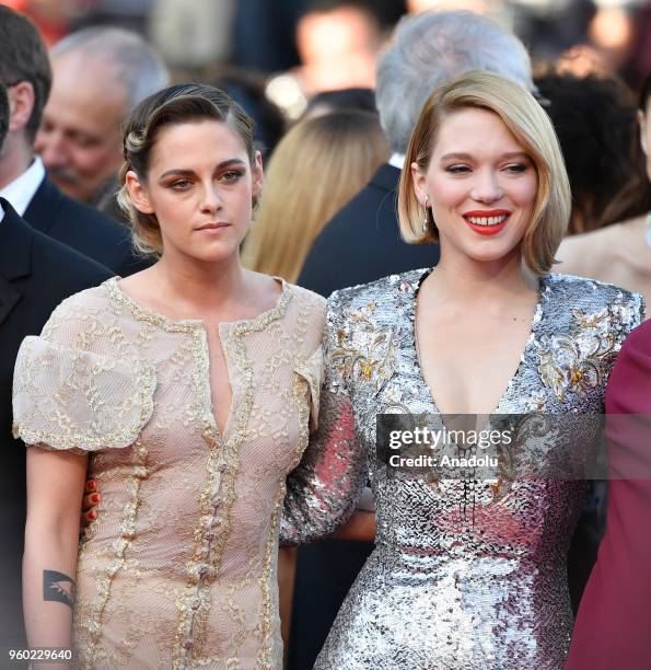
M160 296L197 314L228 309L233 297L245 290L245 270L240 257L202 263L195 258L163 254L151 270Z

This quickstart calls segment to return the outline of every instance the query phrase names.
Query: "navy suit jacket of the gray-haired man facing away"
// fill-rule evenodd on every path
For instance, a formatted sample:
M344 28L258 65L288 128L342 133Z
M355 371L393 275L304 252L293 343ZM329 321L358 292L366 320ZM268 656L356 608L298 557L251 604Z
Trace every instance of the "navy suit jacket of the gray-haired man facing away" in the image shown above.
M326 223L297 284L322 296L439 262L438 244L407 244L396 210L400 171L381 165L370 183Z

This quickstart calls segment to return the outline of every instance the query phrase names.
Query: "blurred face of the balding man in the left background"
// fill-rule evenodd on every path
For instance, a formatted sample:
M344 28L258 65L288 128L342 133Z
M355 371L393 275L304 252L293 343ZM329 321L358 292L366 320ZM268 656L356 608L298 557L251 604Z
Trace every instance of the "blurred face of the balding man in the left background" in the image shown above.
M92 205L121 164L127 92L111 63L88 55L55 58L53 74L35 150L61 190Z

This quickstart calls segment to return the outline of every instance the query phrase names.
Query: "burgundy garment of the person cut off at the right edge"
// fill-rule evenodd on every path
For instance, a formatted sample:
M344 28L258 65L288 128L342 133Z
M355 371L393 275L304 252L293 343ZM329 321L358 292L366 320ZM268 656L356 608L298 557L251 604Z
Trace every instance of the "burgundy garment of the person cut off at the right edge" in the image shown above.
M651 321L630 333L606 389L611 474L649 476ZM651 668L651 477L608 485L606 532L577 614L566 670Z

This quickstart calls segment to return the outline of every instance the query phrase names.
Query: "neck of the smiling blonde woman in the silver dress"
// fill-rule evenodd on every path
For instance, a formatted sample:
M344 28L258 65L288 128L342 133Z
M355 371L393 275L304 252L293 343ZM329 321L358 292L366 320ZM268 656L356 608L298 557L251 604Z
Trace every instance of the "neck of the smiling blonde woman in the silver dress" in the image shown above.
M441 300L466 305L486 305L495 300L513 299L518 294L537 289L538 279L523 267L520 253L514 252L493 262L478 262L467 256L445 257L429 280L437 286Z

